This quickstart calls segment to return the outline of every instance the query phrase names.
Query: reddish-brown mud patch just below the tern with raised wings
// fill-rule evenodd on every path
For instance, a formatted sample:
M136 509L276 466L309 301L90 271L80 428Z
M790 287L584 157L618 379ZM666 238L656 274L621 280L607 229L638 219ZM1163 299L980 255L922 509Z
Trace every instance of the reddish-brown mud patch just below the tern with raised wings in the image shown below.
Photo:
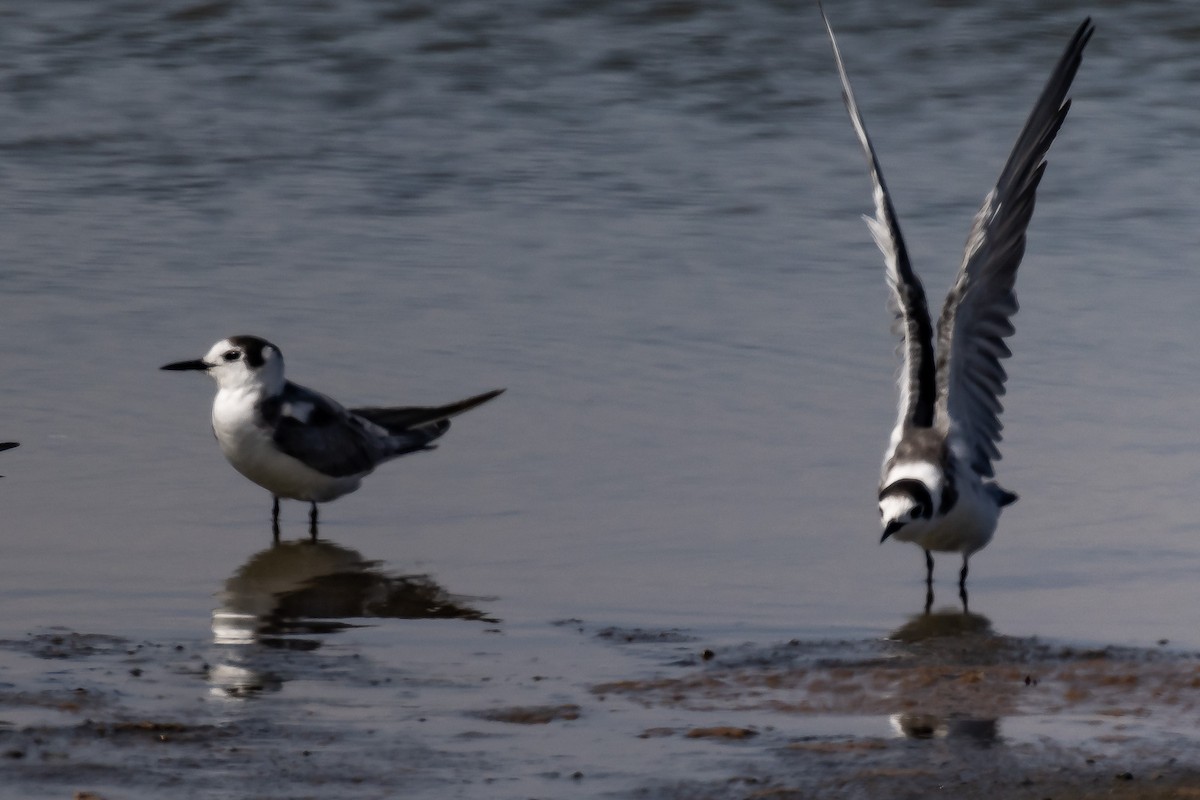
M886 656L881 658L880 656ZM997 718L1087 712L1170 714L1200 723L1200 662L1190 655L1109 648L1079 651L1034 639L979 633L924 642L881 642L864 656L750 664L708 662L672 678L593 687L646 706L691 711L935 715Z

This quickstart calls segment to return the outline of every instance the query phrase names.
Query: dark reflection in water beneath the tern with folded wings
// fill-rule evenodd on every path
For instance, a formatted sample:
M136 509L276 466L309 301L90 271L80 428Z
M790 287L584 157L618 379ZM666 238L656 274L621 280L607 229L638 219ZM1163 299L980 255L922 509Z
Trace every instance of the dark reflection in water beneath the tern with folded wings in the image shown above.
M277 637L341 630L353 618L494 621L427 575L390 576L348 547L301 541L256 553L226 581L212 632L218 644L294 648L304 644Z

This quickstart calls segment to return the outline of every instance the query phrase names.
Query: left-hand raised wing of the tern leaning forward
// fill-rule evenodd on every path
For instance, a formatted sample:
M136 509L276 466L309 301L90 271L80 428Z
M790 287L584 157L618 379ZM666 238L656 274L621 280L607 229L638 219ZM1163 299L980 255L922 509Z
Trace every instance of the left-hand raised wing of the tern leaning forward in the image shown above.
M875 217L864 216L863 218L866 219L866 225L871 229L876 246L883 253L888 287L892 289L888 306L895 314L892 330L901 336L900 408L896 433L892 437L894 446L902 428L928 428L934 425L936 399L934 327L929 319L925 289L908 261L908 251L905 249L904 236L900 235L900 223L896 221L888 187L883 182L880 161L875 155L875 148L871 146L871 139L866 134L866 126L863 124L858 103L854 102L854 92L850 88L850 78L841 62L838 41L833 36L833 28L829 25L823 8L821 18L829 32L833 56L838 62L838 74L841 77L841 97L846 102L850 121L854 126L854 133L858 134L858 142L863 145L863 152L866 154L866 163L871 170L871 181L875 185Z

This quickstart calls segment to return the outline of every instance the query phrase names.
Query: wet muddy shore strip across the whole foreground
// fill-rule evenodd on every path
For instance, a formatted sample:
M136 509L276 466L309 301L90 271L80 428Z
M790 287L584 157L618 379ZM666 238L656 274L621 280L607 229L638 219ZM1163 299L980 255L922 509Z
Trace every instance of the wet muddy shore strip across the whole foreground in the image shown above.
M0 642L0 796L1200 796L1200 658L1168 643L1013 638L953 610L748 644L385 625L437 626L464 658L438 673L430 637L422 667L353 627Z

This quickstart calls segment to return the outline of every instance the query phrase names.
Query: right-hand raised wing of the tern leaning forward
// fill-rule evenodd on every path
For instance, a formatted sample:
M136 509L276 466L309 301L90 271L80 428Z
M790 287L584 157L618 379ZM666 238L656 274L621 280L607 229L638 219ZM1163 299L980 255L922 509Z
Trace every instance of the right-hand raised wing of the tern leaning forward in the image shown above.
M996 187L976 215L954 288L937 323L937 422L953 426L971 467L990 477L1000 458L1000 422L1007 378L1001 359L1016 313L1013 283L1025 254L1025 229L1045 172L1045 156L1070 101L1067 92L1096 30L1085 19L1033 106Z

